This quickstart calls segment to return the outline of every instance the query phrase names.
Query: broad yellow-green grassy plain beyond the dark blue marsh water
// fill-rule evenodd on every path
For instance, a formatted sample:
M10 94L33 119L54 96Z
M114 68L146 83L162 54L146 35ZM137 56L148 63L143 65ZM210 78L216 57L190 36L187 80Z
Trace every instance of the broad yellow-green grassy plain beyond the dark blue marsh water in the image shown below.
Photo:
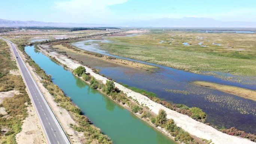
M132 37L107 37L100 47L113 55L193 73L220 71L256 76L256 34L151 31ZM159 43L164 41L162 43ZM189 43L189 46L182 43ZM200 46L198 43L202 42ZM212 43L221 44L213 45Z

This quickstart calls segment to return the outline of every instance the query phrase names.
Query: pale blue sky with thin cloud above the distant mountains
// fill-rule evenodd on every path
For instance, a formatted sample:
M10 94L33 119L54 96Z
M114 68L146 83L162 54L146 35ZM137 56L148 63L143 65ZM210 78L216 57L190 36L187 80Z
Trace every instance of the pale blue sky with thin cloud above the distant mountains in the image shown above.
M0 19L115 24L199 17L256 21L256 0L0 0Z

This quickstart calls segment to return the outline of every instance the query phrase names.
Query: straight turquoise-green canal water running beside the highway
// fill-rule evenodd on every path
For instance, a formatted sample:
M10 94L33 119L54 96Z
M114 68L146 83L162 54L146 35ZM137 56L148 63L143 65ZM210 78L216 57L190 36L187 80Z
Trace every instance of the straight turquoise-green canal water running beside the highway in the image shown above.
M176 144L107 96L91 89L70 71L37 52L34 46L26 46L25 52L46 74L51 74L52 82L115 144Z

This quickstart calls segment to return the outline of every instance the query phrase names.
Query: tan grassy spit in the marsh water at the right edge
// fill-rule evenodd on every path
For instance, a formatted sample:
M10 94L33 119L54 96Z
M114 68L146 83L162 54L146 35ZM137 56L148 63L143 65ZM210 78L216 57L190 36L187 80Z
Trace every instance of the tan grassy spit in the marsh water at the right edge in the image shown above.
M228 86L228 85L220 85L217 83L211 83L211 82L203 82L203 81L195 81L193 82L195 85L204 86L211 89L216 89L222 92L226 92L229 94L237 95L242 98L251 99L253 101L256 101L256 91L245 89L245 88L239 88L236 86Z

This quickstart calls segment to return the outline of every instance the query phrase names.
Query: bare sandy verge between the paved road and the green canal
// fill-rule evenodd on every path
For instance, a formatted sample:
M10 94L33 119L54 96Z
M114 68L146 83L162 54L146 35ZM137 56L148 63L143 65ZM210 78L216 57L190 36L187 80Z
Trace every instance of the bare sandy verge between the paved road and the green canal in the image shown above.
M22 56L22 59L25 59L24 55L21 52L19 53ZM70 124L77 125L77 123L72 119L72 117L70 116L67 110L58 106L58 103L54 101L54 98L52 97L52 95L40 82L41 78L37 76L36 73L34 73L33 68L30 67L30 65L27 62L25 62L25 64L27 65L28 70L30 71L31 75L33 76L34 80L36 81L43 95L45 96L46 101L48 102L49 106L53 110L55 116L60 122L61 127L64 129L65 134L68 136L71 143L82 144L82 141L85 141L83 138L83 132L76 132L72 128L70 128Z

